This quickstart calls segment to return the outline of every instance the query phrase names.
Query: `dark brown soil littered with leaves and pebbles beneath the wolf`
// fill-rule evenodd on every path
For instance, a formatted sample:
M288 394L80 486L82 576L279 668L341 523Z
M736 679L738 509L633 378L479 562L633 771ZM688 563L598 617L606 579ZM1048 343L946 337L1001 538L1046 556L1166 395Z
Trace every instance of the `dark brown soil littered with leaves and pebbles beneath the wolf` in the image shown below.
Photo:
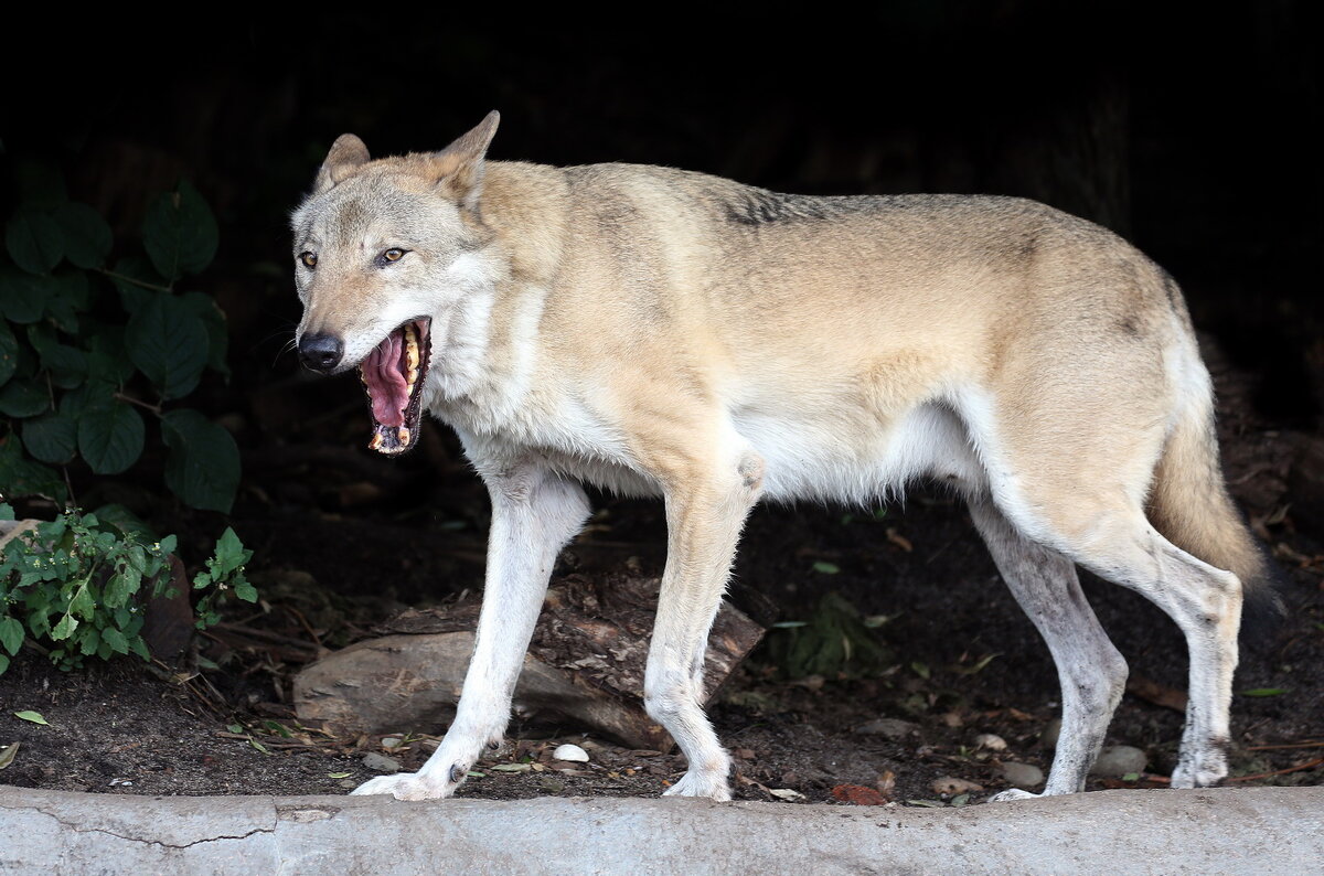
M1307 525L1312 521L1291 511L1294 503L1320 500L1301 492L1316 487L1301 486L1292 471L1308 437L1255 413L1253 378L1217 356L1211 367L1229 482L1278 558L1287 605L1280 623L1243 636L1230 781L1324 783L1324 547ZM323 410L344 408L344 394L316 392L336 398ZM310 393L303 404L320 402ZM232 520L257 552L250 570L260 606L232 609L181 667L120 660L64 674L34 651L21 652L0 676L0 746L20 744L0 781L122 794L342 794L376 774L365 756L388 754L412 770L434 748L444 728L401 726L392 736L357 738L305 728L286 705L290 679L326 648L369 635L406 605L481 586L481 484L436 425L422 453L392 464L351 450L365 429L357 408L330 422L308 417L312 425L301 429L290 426L299 419L281 404L269 404L285 417L281 443L263 437L277 426L266 423L262 405L258 398L248 412L252 483ZM332 427L342 422L343 431ZM659 504L597 496L596 507L559 573L658 574ZM218 529L216 517L156 523L180 531L185 557L193 558ZM1107 744L1148 757L1141 775L1094 778L1090 787L1161 786L1182 724L1172 705L1184 689L1184 642L1143 598L1088 576L1084 589L1140 681L1123 699ZM710 707L735 757L736 797L773 799L782 789L813 802L870 797L842 789L854 785L880 789L880 798L940 806L953 802L935 790L943 777L982 789L955 795L965 803L1006 787L1000 761L1047 770L1051 750L1041 737L1058 713L1057 674L959 503L916 490L880 519L759 508L732 601L768 625L810 618L829 591L861 615L886 621L878 635L890 659L867 674L847 664L831 678L786 679L765 648L756 650ZM25 709L48 724L15 717ZM867 732L880 717L906 724ZM982 733L997 734L1006 749L977 748ZM560 742L587 749L589 762L553 761ZM507 745L475 766L459 795L651 797L682 773L678 754L626 749L585 737L581 728L512 725Z

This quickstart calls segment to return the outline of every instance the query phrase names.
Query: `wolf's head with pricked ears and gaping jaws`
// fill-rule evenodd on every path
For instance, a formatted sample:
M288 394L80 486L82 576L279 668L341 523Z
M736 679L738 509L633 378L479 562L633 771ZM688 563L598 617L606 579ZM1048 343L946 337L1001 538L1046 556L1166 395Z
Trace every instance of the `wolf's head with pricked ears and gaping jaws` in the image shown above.
M376 161L344 134L294 212L299 356L323 373L359 367L381 453L418 438L432 343L446 340L434 324L450 326L491 287L479 196L499 118L441 152Z

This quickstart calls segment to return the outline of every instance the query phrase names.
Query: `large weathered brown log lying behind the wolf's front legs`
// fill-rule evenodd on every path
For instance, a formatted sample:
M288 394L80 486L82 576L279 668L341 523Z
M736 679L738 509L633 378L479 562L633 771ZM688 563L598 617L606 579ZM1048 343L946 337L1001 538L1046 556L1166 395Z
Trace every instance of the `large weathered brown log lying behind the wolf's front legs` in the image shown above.
M629 748L671 750L666 730L643 709L643 667L657 578L571 574L547 593L515 688L520 720L583 728ZM448 725L474 651L478 598L406 611L376 639L357 642L301 671L294 707L303 724L347 736ZM708 636L707 703L759 643L763 627L723 603Z

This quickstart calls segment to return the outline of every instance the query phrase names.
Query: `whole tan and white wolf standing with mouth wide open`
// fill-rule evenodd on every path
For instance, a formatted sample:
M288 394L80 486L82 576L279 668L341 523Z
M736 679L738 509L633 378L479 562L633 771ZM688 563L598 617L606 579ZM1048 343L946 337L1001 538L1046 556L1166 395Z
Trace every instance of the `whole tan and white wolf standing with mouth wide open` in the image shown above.
M731 797L699 697L749 509L870 503L925 478L968 503L1057 663L1043 795L1084 789L1127 678L1076 566L1185 636L1172 786L1226 775L1243 593L1266 566L1227 495L1172 277L1013 197L489 161L498 119L377 160L346 134L293 213L303 363L359 369L383 454L418 442L424 412L448 423L493 507L455 719L422 769L355 794L448 797L499 744L552 565L589 513L584 483L665 502L643 701L687 760L666 794Z

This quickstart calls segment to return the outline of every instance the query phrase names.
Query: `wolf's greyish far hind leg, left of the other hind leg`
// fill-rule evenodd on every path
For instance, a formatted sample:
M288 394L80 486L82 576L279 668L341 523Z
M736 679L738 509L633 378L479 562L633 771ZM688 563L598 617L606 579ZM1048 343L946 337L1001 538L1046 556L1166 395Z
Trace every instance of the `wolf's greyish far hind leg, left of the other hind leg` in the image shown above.
M970 516L1016 601L1039 630L1062 684L1062 733L1043 795L1084 790L1127 681L1127 662L1080 591L1075 565L1021 535L988 499ZM1004 791L993 799L1034 797Z

